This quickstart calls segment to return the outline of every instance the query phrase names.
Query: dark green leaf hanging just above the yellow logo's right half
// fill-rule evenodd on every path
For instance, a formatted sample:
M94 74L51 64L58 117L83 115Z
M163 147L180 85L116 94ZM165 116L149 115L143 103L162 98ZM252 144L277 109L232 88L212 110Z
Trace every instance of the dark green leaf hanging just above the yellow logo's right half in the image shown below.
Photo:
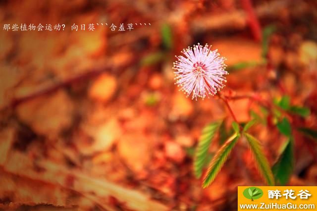
M294 169L294 143L293 138L290 137L280 155L278 160L272 167L275 181L281 185L285 185Z

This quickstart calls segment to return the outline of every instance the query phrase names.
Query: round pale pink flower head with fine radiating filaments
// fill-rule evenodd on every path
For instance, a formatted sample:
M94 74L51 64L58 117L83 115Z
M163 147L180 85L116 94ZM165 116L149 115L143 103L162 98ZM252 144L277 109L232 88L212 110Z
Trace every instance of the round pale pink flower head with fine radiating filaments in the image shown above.
M226 65L224 57L221 57L217 50L211 51L211 47L194 45L184 49L185 55L176 56L174 62L175 84L181 87L187 97L192 94L192 99L202 99L213 96L222 89L227 82L224 75Z

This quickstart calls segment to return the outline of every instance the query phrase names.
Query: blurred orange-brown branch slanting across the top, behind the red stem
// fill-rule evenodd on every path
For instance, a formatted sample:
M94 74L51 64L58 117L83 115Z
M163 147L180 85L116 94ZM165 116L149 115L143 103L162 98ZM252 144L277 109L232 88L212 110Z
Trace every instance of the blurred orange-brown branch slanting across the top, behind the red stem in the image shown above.
M296 5L291 0L274 0L258 6L254 9L254 15L258 19L269 17L278 17L285 8L296 6L296 15L300 16L305 13L308 6L303 1L296 2ZM290 9L291 10L291 9ZM292 11L292 10L291 10ZM178 18L175 20L175 16ZM149 28L136 28L133 33L119 33L109 37L109 45L124 46L136 42L142 38L153 36L154 33L159 33L159 29L164 23L171 23L172 26L177 27L178 21L186 19L186 12L181 9L172 12L165 19L158 19L151 22ZM191 27L194 33L204 32L208 30L242 30L248 25L248 15L242 9L224 14L208 15L191 19ZM260 34L261 36L261 34Z

